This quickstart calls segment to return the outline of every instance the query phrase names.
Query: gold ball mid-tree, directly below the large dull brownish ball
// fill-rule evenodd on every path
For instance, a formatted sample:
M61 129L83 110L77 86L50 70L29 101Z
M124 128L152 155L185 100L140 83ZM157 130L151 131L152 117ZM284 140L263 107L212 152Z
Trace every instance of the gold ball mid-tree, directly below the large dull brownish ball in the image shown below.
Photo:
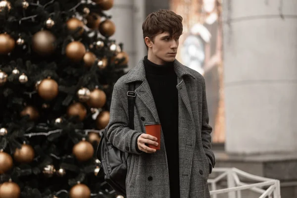
M38 95L45 100L52 100L56 98L59 93L58 83L53 79L44 79L38 86Z

